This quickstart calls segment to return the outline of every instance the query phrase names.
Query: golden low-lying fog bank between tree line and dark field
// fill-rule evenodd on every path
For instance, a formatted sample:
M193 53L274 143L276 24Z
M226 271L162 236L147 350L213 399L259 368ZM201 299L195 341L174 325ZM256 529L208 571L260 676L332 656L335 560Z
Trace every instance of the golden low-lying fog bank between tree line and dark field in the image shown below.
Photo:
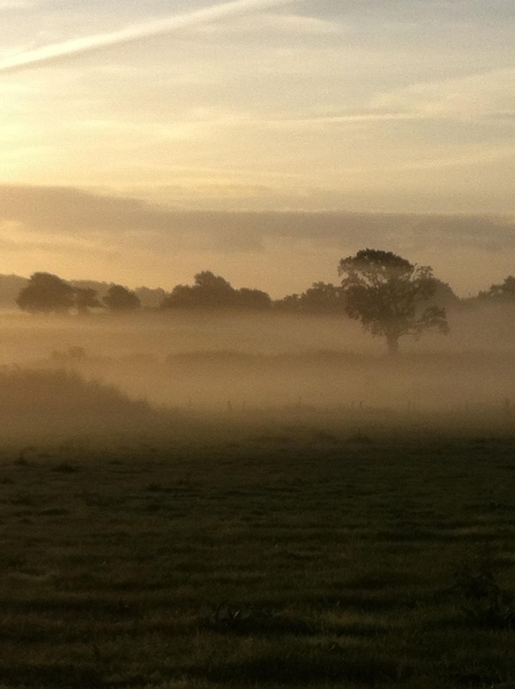
M448 313L397 360L347 318L141 313L1 318L0 363L73 369L136 399L199 411L278 406L442 411L515 404L515 311Z

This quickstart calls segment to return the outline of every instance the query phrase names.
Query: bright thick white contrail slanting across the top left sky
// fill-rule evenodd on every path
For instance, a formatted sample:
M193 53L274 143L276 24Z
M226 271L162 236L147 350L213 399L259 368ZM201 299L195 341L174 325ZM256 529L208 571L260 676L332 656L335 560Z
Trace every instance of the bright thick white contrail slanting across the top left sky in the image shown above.
M233 0L232 2L223 2L200 10L169 15L152 22L133 24L132 26L118 29L118 31L109 31L105 34L95 34L94 36L83 36L82 38L71 38L69 41L52 43L42 48L34 48L34 50L26 50L19 55L0 60L0 73L18 71L26 67L52 62L62 57L106 48L109 45L129 43L130 41L138 41L140 38L168 34L176 29L194 27L197 24L207 24L225 17L245 14L252 10L263 10L296 1Z

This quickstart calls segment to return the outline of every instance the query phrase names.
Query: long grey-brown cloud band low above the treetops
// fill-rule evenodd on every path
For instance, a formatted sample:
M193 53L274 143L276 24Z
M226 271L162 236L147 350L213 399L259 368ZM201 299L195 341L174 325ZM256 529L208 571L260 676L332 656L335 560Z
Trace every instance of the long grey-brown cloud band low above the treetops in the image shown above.
M515 220L495 215L415 213L185 211L140 199L69 187L0 185L0 222L49 234L56 243L127 246L155 253L210 250L260 252L276 243L344 250L372 246L419 253L515 249ZM48 241L45 242L48 246ZM84 246L87 246L84 243Z

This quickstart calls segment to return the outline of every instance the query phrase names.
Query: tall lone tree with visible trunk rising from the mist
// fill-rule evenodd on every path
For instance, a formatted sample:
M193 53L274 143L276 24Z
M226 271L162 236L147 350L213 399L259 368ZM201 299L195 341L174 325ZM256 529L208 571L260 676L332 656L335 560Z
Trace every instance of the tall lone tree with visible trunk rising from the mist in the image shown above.
M390 251L362 249L342 258L338 272L344 276L346 313L372 335L385 337L390 355L397 354L402 335L418 339L427 329L449 332L445 309L425 306L436 289L430 266L411 264Z

